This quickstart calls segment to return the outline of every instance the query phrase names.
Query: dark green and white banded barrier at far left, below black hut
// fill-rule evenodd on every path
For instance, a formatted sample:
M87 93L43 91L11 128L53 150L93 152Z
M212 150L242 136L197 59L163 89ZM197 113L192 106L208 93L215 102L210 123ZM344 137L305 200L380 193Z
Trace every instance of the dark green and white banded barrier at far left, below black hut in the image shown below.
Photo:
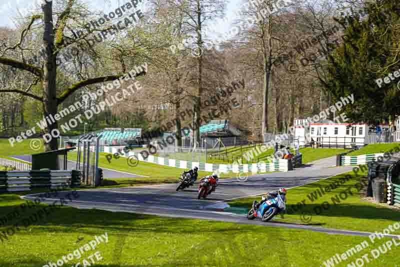
M79 187L80 171L0 171L0 192Z

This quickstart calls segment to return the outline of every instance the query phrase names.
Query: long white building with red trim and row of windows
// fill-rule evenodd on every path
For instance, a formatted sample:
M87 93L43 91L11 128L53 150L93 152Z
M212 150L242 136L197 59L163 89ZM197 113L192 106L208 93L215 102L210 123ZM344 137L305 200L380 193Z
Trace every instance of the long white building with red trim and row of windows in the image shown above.
M351 145L363 146L370 142L368 135L369 126L364 123L348 124L335 123L330 120L320 120L308 124L306 120L295 119L294 136L298 138L299 145L304 145L314 141L318 146L323 147L348 147ZM397 129L400 126L400 118L396 122ZM389 130L389 125L379 125L382 132ZM397 140L400 141L399 132L396 133ZM374 134L372 134L375 137Z

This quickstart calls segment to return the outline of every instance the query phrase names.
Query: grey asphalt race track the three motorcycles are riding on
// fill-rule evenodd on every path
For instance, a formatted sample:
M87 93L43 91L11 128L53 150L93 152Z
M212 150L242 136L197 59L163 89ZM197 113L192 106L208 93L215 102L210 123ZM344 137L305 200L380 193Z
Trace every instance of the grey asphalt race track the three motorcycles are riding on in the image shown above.
M262 222L248 220L245 215L215 211L209 207L218 202L233 198L253 196L275 190L280 187L290 188L328 178L340 173L348 172L353 167L332 167L335 157L315 161L289 172L265 173L249 176L244 181L228 178L220 180L215 192L206 199L197 200L197 186L194 185L183 191L176 192L176 184L161 184L152 186L136 186L122 188L104 188L92 190L78 190L78 198L68 201L69 206L76 208L97 208L109 211L131 212L141 214L160 215L168 217L184 217L227 221L240 224L258 224L275 227L308 229L330 234L350 234L367 236L370 233L328 229L319 226L297 223L283 223L278 220ZM66 192L58 192L57 199L45 199L43 202L52 203L59 200ZM23 198L33 200L37 194L26 195ZM290 195L288 195L290 197ZM276 216L279 217L279 216ZM391 236L391 235L388 235ZM392 235L395 237L395 235Z

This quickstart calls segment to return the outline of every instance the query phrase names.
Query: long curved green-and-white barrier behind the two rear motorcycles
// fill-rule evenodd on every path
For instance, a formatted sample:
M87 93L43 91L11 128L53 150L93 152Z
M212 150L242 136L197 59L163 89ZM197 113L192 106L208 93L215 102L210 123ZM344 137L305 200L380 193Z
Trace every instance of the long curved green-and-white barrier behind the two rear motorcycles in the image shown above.
M109 153L120 153L120 149L116 147L104 147L104 151L110 151ZM149 155L147 158L143 158L140 153L129 151L128 153L120 154L121 157L136 156L139 161L146 161L154 164L176 167L180 169L191 169L198 167L201 171L218 171L218 172L235 172L235 173L246 173L246 172L268 172L268 171L289 171L287 159L276 159L270 163L251 163L242 165L233 164L215 164L215 163L204 163L204 162L193 162L186 160L175 160L162 157L155 157Z

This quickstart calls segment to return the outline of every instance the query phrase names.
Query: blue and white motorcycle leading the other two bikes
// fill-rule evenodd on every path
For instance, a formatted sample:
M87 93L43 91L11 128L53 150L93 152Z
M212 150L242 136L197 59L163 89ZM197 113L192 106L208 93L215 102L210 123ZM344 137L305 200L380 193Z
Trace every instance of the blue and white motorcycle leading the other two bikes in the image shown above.
M261 218L262 221L268 221L276 214L282 212L286 208L286 203L278 194L277 197L268 199L262 203L256 212L251 208L247 213L247 219L252 220L256 217Z

